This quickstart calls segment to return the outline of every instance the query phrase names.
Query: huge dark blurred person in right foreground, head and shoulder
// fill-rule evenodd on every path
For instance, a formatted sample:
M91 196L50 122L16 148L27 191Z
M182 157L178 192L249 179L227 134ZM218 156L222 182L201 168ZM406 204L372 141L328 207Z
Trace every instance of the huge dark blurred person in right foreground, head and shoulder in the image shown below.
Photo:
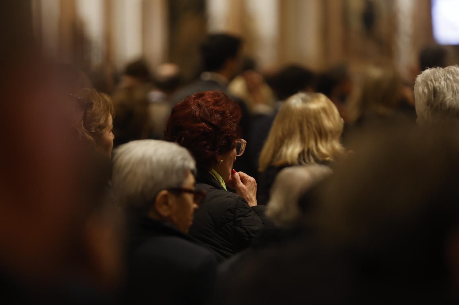
M362 136L310 196L312 230L246 260L225 304L454 304L457 135L398 126Z

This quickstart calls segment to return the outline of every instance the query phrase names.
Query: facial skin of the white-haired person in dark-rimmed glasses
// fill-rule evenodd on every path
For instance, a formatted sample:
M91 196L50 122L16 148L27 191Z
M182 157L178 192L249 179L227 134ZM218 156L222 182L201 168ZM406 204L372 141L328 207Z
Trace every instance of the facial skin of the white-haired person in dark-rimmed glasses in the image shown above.
M188 171L187 178L182 184L182 187L184 189L194 190L195 182L195 177ZM188 233L191 224L193 224L193 218L197 208L198 205L194 202L193 194L186 192L180 194L171 193L169 221L174 223L181 232Z

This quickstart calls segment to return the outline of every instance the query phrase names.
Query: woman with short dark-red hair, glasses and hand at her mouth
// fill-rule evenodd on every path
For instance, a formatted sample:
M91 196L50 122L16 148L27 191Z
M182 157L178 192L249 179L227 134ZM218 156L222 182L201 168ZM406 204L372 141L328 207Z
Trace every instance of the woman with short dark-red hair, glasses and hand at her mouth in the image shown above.
M270 223L265 207L257 205L255 179L233 169L246 147L240 120L241 109L226 94L201 92L172 109L164 135L191 152L198 167L196 187L207 191L190 235L224 257L244 249Z

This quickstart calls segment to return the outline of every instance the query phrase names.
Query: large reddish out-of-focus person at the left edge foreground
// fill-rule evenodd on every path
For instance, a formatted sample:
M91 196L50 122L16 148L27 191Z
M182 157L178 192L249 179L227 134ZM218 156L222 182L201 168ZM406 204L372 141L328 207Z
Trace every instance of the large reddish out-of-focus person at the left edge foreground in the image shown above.
M0 136L7 160L0 174L0 303L79 304L88 297L88 304L98 288L113 284L117 267L105 223L88 225L106 176L78 141L79 109L70 94L90 82L39 55L30 1L0 6L8 24L0 97L14 101L0 103L1 129L14 129Z

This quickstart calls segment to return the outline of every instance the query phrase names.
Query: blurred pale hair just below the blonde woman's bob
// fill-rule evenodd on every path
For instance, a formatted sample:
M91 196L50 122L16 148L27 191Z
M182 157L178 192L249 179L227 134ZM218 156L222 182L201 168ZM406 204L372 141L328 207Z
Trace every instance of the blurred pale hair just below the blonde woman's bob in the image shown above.
M277 225L289 225L301 218L298 200L332 170L325 165L302 165L282 169L274 179L266 215Z

